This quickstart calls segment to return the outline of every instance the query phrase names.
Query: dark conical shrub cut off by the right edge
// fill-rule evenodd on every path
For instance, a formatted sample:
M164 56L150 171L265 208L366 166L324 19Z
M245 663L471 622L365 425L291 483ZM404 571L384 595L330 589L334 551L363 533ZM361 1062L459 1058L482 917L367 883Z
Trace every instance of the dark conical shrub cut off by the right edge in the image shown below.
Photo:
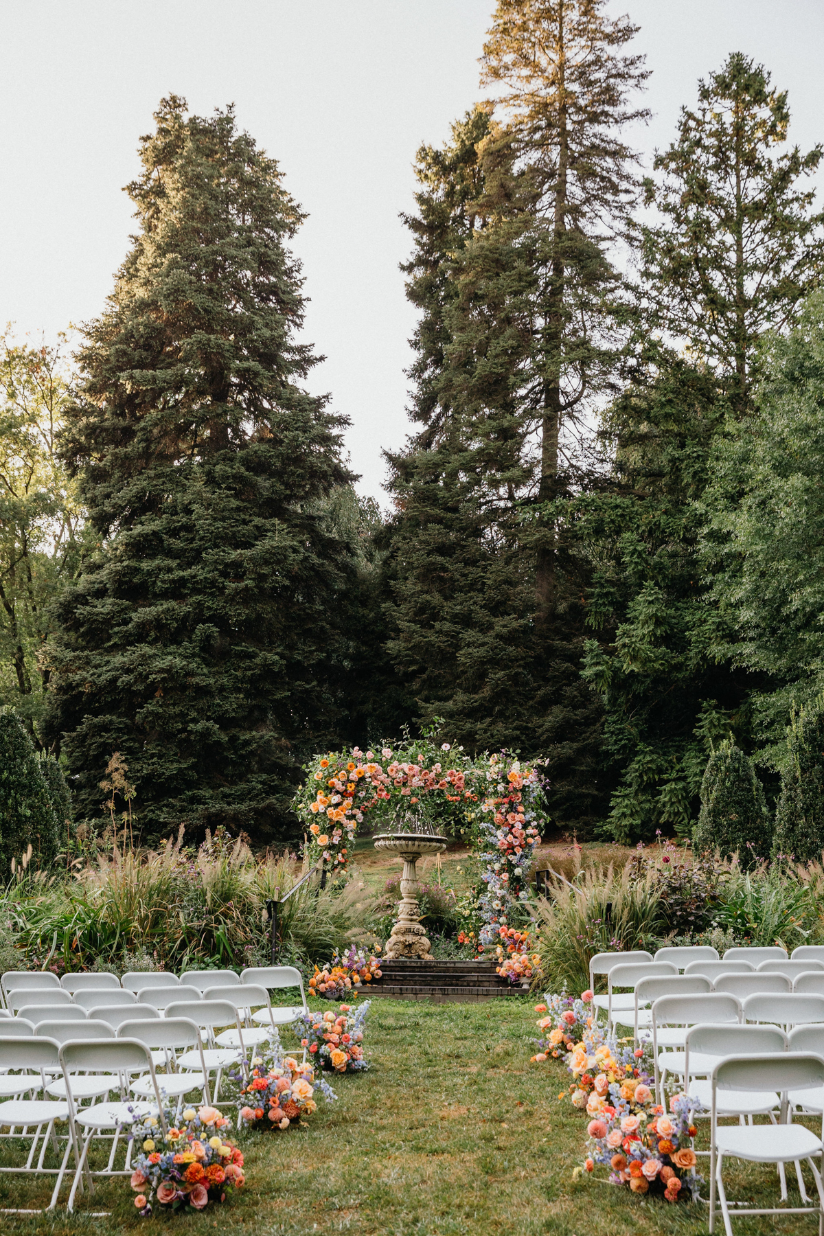
M787 763L776 808L775 853L808 863L824 849L824 696L787 727Z

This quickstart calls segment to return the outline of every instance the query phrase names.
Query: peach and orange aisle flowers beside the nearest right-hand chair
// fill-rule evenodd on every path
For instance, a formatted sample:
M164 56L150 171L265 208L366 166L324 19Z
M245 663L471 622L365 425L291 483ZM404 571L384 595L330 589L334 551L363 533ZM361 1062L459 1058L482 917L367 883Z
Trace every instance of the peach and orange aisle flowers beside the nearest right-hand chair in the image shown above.
M636 1088L636 1095L640 1086ZM696 1174L694 1116L700 1104L687 1095L663 1107L640 1101L634 1107L616 1083L609 1088L609 1103L589 1121L589 1154L584 1170L608 1167L612 1184L629 1185L633 1193L662 1194L667 1201L689 1195L698 1199L702 1177Z

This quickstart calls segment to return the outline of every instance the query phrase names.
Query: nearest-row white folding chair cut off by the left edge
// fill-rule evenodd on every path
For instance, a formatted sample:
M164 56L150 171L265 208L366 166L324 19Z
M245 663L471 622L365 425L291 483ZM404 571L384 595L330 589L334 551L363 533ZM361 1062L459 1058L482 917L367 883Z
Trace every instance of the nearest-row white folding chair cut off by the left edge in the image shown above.
M9 1099L6 1103L0 1103L0 1128L9 1128L9 1133L4 1137L4 1141L7 1140L10 1147L16 1147L19 1141L25 1142L31 1138L25 1163L10 1164L9 1162L4 1162L0 1164L0 1172L32 1175L54 1174L57 1179L52 1190L52 1200L47 1208L48 1210L53 1210L57 1205L57 1198L72 1153L72 1138L67 1137L61 1158L61 1147L54 1132L54 1121L68 1120L69 1107L64 1099L36 1099L33 1094L43 1089L47 1077L59 1073L61 1064L57 1043L46 1038L35 1038L33 1036L12 1037L0 1035L0 1068L4 1070L20 1069L22 1070L22 1075L17 1074L17 1077L21 1082L23 1079L28 1080L28 1078L33 1082L32 1086L28 1086L25 1091L20 1091L28 1093L32 1098L23 1099L16 1096ZM9 1074L6 1073L6 1075ZM35 1162L38 1143L40 1154L37 1156L37 1162ZM46 1167L46 1152L49 1146L54 1151L57 1167Z

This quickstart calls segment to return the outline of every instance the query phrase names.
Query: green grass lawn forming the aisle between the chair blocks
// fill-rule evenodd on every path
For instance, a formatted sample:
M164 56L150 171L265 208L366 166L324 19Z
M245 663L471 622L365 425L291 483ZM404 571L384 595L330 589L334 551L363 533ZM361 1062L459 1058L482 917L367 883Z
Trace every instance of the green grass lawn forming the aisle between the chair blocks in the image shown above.
M326 1006L325 1006L326 1007ZM566 1072L530 1064L532 1001L421 1005L378 1001L367 1046L373 1069L336 1080L338 1101L321 1104L305 1128L247 1135L247 1187L203 1215L142 1220L127 1182L98 1187L83 1209L51 1216L0 1215L0 1232L89 1232L180 1227L254 1236L698 1236L705 1208L631 1196L589 1178L586 1116L558 1091ZM705 1161L704 1161L705 1162ZM730 1195L777 1196L775 1169L730 1177ZM48 1188L0 1178L1 1206L36 1206ZM791 1193L792 1198L792 1193ZM763 1204L762 1203L762 1204ZM723 1231L719 1225L718 1231ZM810 1217L752 1219L741 1236L813 1232Z

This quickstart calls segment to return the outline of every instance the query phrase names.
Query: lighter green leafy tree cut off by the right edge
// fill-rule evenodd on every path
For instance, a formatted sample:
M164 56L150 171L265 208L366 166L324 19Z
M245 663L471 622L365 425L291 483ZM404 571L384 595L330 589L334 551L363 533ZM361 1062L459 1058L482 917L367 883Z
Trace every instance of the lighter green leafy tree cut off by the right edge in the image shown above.
M713 447L704 559L724 618L718 654L761 675L759 739L783 763L792 700L824 681L824 295L762 350L757 412Z

